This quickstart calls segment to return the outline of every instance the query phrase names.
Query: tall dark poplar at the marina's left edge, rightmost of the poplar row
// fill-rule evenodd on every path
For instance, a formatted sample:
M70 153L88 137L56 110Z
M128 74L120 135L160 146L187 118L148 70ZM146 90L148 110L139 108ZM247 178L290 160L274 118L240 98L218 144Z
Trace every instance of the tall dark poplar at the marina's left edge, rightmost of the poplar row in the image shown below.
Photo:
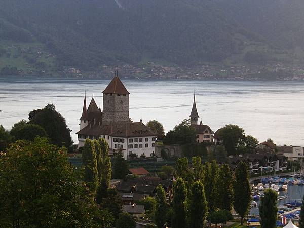
M246 163L239 162L235 171L234 181L234 208L241 217L241 224L247 215L251 201L248 167Z

